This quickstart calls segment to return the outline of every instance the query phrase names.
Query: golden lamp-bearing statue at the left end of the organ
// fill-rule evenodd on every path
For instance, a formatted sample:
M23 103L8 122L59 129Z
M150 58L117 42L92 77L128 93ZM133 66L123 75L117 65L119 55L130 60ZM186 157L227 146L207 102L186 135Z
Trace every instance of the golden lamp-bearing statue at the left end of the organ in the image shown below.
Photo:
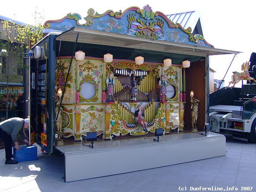
M55 133L58 135L56 140L62 141L62 139L61 139L61 127L62 127L62 122L63 122L62 108L60 108L60 111L58 113L58 109L61 104L61 99L60 99L60 97L62 95L61 89L58 90L57 95L58 95L58 101L55 106ZM57 116L57 114L58 114L58 116Z

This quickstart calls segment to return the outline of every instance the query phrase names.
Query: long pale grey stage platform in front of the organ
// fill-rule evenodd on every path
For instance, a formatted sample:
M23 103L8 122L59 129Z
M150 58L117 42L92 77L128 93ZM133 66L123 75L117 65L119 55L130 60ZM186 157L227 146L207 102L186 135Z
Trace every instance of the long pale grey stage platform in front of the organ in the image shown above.
M204 132L200 132L203 133ZM223 156L226 138L208 132L58 146L65 157L65 182L116 175ZM86 142L89 145L89 142Z

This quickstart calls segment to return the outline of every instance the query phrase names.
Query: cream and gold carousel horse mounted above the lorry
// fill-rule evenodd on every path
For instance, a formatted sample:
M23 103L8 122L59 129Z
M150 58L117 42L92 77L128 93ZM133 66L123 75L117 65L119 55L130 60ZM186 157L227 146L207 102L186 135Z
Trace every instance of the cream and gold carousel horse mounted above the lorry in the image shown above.
M235 86L236 83L238 83L240 80L248 80L251 83L251 80L256 82L256 80L253 77L250 77L250 74L248 72L250 68L250 64L249 62L245 62L242 64L242 70L243 72L239 73L239 72L232 72L232 81L229 82L227 88L230 86L230 84L233 84L233 86L231 88L233 88Z

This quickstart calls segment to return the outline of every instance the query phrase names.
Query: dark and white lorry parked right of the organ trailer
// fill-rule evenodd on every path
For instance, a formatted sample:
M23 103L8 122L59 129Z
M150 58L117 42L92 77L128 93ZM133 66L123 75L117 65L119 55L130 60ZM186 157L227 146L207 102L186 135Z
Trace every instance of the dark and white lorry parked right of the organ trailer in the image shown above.
M256 55L253 52L250 60L253 54ZM250 63L250 76L255 78L256 65ZM235 94L234 89L240 93ZM213 132L232 134L235 139L256 143L256 84L242 84L242 88L233 89L224 87L212 93L209 100L210 105L214 103L209 107Z

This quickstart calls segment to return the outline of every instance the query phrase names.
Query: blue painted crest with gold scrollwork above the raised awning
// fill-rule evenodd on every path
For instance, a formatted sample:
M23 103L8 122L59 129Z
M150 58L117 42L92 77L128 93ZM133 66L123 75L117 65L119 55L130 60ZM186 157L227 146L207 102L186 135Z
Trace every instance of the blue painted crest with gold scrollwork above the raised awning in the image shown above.
M205 41L202 35L193 35L190 27L183 29L179 23L173 23L162 12L153 12L148 5L144 6L143 9L130 7L124 12L108 10L103 14L95 13L93 9L89 9L87 14L87 17L84 17L86 21L84 24L80 24L81 16L79 14L70 13L60 20L46 21L44 27L61 31L80 27L140 38L213 47Z

